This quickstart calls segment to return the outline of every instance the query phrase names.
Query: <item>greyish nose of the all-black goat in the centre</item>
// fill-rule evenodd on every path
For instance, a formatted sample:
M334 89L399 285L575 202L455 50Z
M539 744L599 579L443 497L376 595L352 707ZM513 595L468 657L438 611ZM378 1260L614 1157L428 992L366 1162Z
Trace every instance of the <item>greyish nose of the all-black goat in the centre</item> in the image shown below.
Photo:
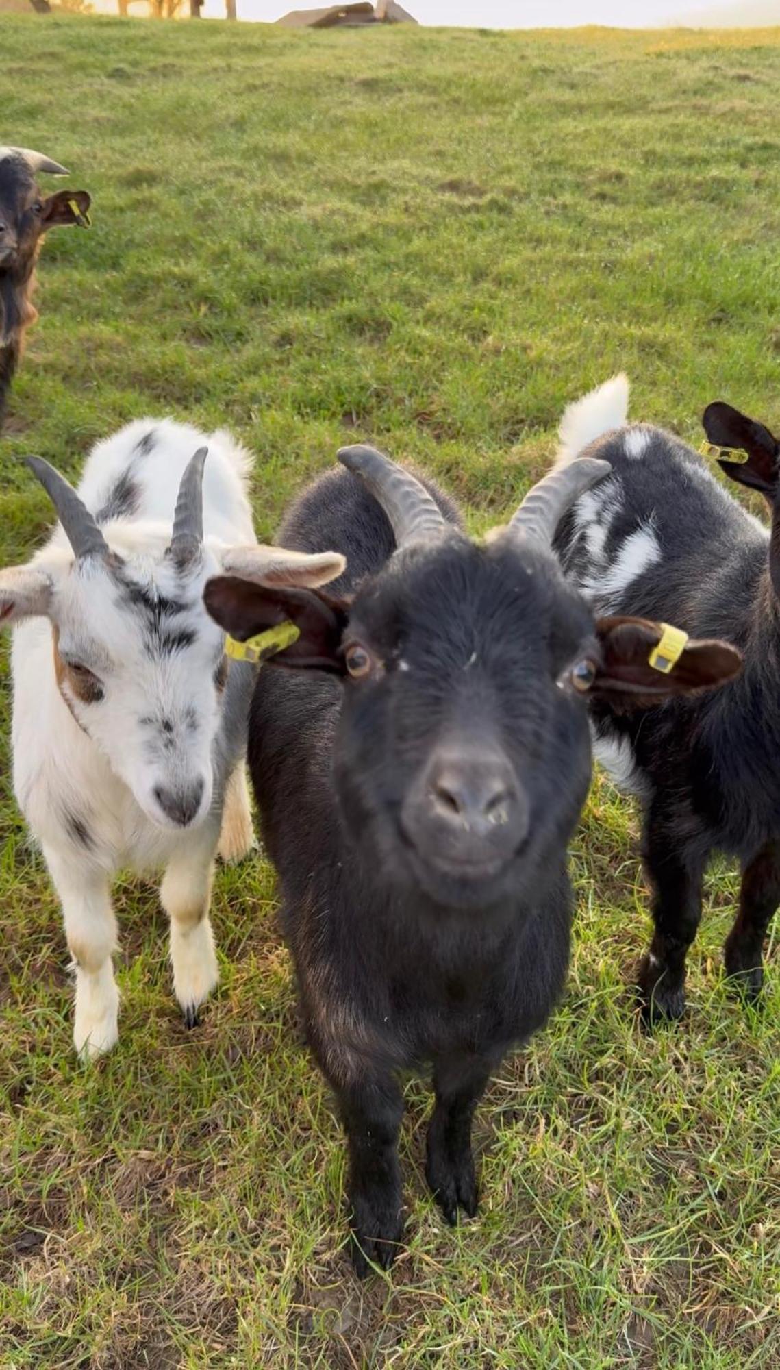
M515 775L504 758L442 758L428 775L437 819L472 837L490 837L512 822Z

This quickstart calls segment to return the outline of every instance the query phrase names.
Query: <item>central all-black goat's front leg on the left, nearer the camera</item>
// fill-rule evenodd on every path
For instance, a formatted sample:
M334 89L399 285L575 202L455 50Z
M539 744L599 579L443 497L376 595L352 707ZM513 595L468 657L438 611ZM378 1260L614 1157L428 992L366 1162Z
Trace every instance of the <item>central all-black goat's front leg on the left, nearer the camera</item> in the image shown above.
M404 1236L397 1149L404 1101L390 1074L367 1074L337 1096L349 1147L352 1259L364 1278L369 1262L390 1269Z

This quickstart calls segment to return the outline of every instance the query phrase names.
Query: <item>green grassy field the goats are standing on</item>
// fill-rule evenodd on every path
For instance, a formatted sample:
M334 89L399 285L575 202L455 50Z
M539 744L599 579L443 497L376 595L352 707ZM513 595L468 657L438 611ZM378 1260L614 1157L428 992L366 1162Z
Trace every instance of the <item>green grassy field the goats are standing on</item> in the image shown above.
M52 233L0 440L8 560L142 414L229 425L274 532L346 437L495 518L564 403L617 367L692 438L717 396L780 425L780 30L572 34L0 19L3 137L94 197ZM1 738L8 738L3 692ZM565 1001L478 1114L482 1217L426 1193L359 1285L343 1152L300 1045L272 873L222 871L222 984L186 1033L155 889L125 881L122 1043L70 1044L52 892L3 770L0 1367L780 1367L780 974L721 982L718 867L690 1010L645 1036L634 810L597 781ZM777 958L775 958L777 960Z

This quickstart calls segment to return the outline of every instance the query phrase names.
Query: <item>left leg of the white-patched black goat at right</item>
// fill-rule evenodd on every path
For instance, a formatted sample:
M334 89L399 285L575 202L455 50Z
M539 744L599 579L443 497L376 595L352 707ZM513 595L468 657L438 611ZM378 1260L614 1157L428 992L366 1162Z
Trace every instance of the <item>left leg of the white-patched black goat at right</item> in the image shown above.
M673 844L671 823L653 814L645 827L645 870L653 893L655 930L639 963L638 986L645 1022L681 1018L686 1011L686 956L702 917L701 855Z

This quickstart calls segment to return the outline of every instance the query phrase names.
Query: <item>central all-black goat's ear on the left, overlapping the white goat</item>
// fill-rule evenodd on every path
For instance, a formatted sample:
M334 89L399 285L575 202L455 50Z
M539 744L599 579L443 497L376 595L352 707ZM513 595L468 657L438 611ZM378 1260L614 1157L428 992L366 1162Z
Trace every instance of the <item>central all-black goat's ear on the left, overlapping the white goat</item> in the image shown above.
M294 623L300 637L268 658L270 664L319 667L343 675L341 636L349 618L346 600L322 590L253 585L235 575L215 575L207 581L203 597L211 616L239 643L278 623Z

